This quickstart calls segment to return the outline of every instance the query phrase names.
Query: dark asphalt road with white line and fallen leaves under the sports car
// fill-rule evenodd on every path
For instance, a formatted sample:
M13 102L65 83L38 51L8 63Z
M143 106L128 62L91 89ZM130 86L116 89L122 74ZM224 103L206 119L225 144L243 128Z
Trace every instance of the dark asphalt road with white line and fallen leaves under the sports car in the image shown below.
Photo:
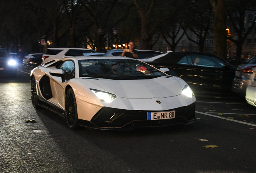
M0 76L0 172L256 172L256 107L235 96L198 96L196 118L168 128L72 131L33 108L29 71Z

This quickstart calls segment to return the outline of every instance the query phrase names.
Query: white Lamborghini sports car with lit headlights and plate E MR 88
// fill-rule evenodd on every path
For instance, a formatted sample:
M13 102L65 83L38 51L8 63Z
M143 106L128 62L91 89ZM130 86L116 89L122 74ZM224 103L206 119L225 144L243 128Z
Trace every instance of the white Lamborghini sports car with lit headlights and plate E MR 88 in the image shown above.
M196 98L190 87L160 70L133 58L64 58L31 71L31 99L35 108L65 118L71 129L193 123Z

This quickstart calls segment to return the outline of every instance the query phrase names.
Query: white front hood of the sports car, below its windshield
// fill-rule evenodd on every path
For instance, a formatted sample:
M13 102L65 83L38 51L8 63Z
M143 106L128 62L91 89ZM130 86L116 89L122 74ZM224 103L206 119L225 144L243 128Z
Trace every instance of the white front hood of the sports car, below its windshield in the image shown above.
M99 80L84 78L84 80L99 86L93 89L104 89L109 93L115 94L117 97L128 99L173 97L180 95L182 91L180 82L173 76L144 80L111 80L103 78Z

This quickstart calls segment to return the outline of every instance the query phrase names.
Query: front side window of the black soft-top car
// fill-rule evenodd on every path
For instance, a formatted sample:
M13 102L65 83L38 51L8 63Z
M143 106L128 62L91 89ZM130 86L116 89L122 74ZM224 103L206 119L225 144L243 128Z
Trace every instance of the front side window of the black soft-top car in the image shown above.
M204 67L215 67L221 68L224 66L224 62L213 57L206 55L190 54L194 66L204 66Z

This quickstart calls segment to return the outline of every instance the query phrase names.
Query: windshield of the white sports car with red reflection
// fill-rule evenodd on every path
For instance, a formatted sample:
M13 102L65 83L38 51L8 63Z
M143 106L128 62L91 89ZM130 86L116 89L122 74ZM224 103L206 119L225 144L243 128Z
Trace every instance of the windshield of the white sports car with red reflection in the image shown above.
M128 80L166 76L165 73L139 60L90 59L78 60L78 64L80 77Z

